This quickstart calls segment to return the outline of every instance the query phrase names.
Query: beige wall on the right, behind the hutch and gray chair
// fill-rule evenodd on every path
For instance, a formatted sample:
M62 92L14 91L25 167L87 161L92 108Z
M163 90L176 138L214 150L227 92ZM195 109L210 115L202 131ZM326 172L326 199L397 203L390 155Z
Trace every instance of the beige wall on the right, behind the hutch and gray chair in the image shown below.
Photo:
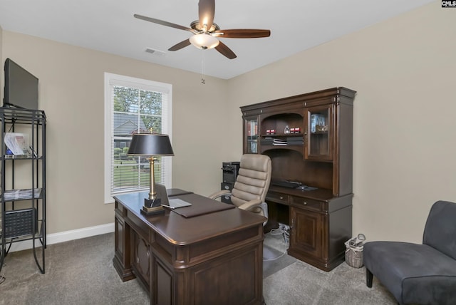
M455 10L435 1L230 80L231 115L261 100L356 90L353 234L421 242L430 205L456 202L455 54ZM237 120L230 134L240 130Z

